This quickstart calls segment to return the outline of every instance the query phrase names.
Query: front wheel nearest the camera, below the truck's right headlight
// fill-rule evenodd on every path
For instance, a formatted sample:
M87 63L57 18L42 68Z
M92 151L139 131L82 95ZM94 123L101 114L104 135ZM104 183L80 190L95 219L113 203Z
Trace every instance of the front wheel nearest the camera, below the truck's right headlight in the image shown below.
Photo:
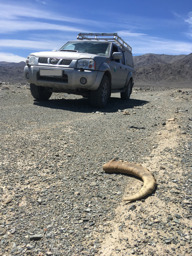
M94 108L105 108L110 95L110 84L108 76L103 76L100 86L95 91L90 91L91 105Z

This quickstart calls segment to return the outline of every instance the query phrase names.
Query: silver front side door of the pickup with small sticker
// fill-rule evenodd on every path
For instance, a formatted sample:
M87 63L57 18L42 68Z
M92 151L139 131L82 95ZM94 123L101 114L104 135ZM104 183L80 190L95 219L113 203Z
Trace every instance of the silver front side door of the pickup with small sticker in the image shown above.
M123 67L122 65L122 60L112 59L113 52L119 52L118 47L115 44L113 44L110 54L111 87L112 89L119 89L126 85L127 73L125 72L125 66Z

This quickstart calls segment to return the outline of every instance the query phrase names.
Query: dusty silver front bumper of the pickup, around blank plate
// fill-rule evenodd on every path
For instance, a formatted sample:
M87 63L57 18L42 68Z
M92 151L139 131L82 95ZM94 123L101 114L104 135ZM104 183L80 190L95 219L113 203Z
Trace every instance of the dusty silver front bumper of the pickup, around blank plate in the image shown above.
M57 69L62 70L61 76L40 76L40 69ZM45 66L30 66L24 68L24 76L29 84L37 86L52 87L57 89L88 89L97 90L103 77L102 71L84 70L77 68L55 68ZM80 79L86 78L86 84L82 84Z

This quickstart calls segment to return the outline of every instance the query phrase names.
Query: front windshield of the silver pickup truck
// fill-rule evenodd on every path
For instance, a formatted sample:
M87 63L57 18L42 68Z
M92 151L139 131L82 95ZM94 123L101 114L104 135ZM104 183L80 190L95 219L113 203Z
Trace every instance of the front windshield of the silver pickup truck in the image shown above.
M74 50L79 52L86 52L101 56L108 56L109 52L109 43L99 42L99 41L70 41L67 44L63 45L61 50Z

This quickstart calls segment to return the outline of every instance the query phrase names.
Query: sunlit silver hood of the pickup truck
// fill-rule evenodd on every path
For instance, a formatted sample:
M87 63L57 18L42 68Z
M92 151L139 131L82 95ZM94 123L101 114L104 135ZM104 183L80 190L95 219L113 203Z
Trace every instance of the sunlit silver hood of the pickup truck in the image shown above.
M94 54L90 53L82 53L82 52L33 52L30 55L35 55L36 57L47 57L47 58L63 58L63 59L82 59L82 58L88 58L91 59L94 56Z

